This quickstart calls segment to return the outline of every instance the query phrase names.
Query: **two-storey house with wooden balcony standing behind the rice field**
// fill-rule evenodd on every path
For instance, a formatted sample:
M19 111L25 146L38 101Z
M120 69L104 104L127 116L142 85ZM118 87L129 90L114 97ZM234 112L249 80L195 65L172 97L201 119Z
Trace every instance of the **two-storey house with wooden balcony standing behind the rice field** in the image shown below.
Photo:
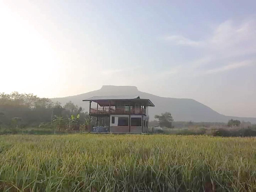
M94 96L83 101L90 102L89 122L94 116L95 126L103 126L106 125L103 118L107 119L108 132L112 133L148 132L148 107L155 106L149 99L140 99L139 95ZM92 102L97 103L97 107L92 108Z

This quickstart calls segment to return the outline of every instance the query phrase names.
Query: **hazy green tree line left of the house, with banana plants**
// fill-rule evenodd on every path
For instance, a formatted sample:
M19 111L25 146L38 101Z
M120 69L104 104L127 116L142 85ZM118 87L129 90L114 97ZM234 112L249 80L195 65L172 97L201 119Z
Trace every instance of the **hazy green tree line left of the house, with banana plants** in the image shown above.
M0 93L0 128L52 126L60 131L79 130L81 124L86 124L88 116L88 112L71 101L62 106L31 93Z

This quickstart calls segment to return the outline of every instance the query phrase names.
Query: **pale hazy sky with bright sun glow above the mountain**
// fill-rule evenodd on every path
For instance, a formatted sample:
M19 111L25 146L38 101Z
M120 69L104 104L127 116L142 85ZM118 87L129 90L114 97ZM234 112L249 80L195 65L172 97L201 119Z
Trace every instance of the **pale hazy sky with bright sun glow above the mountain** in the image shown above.
M256 117L256 1L2 1L0 92L133 85Z

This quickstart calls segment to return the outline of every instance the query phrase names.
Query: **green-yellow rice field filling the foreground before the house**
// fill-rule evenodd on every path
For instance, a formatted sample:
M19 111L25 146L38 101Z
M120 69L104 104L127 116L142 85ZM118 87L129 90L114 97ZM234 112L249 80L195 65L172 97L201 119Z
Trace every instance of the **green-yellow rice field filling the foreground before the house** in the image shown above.
M0 191L255 191L256 138L2 135Z

